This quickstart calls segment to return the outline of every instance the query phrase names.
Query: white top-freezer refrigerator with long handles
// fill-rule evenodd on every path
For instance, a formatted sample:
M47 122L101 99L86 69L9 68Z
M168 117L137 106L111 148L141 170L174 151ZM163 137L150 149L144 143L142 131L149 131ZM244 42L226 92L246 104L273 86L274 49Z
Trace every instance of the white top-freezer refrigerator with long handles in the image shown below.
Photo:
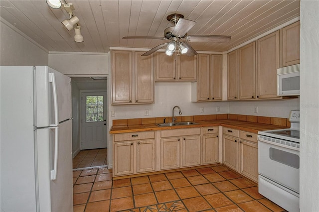
M72 212L71 78L0 67L1 212Z

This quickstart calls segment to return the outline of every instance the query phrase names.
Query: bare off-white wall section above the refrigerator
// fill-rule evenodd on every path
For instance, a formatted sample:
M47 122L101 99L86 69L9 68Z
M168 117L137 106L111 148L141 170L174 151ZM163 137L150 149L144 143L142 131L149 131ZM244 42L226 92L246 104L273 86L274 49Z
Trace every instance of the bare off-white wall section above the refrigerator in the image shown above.
M47 66L48 51L0 19L1 66Z

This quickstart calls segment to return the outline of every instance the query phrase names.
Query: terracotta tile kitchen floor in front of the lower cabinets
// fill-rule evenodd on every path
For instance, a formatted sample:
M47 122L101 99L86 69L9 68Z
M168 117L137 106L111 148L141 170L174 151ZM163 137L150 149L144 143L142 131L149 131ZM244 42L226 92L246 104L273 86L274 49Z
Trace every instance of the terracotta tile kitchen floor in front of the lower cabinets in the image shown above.
M73 172L74 212L283 212L258 188L218 164L112 180L107 168Z

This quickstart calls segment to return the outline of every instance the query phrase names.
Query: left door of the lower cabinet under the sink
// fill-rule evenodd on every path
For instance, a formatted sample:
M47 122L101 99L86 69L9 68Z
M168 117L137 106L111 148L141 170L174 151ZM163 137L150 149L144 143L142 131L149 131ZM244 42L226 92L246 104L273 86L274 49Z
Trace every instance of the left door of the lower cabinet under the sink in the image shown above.
M180 167L180 139L167 138L160 140L160 169Z

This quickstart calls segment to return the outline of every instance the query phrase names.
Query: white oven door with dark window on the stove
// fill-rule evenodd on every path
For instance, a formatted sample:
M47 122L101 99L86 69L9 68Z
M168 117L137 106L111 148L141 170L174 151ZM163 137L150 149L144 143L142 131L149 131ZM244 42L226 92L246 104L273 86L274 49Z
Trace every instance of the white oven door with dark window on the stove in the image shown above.
M299 194L299 148L293 144L258 136L258 172Z

